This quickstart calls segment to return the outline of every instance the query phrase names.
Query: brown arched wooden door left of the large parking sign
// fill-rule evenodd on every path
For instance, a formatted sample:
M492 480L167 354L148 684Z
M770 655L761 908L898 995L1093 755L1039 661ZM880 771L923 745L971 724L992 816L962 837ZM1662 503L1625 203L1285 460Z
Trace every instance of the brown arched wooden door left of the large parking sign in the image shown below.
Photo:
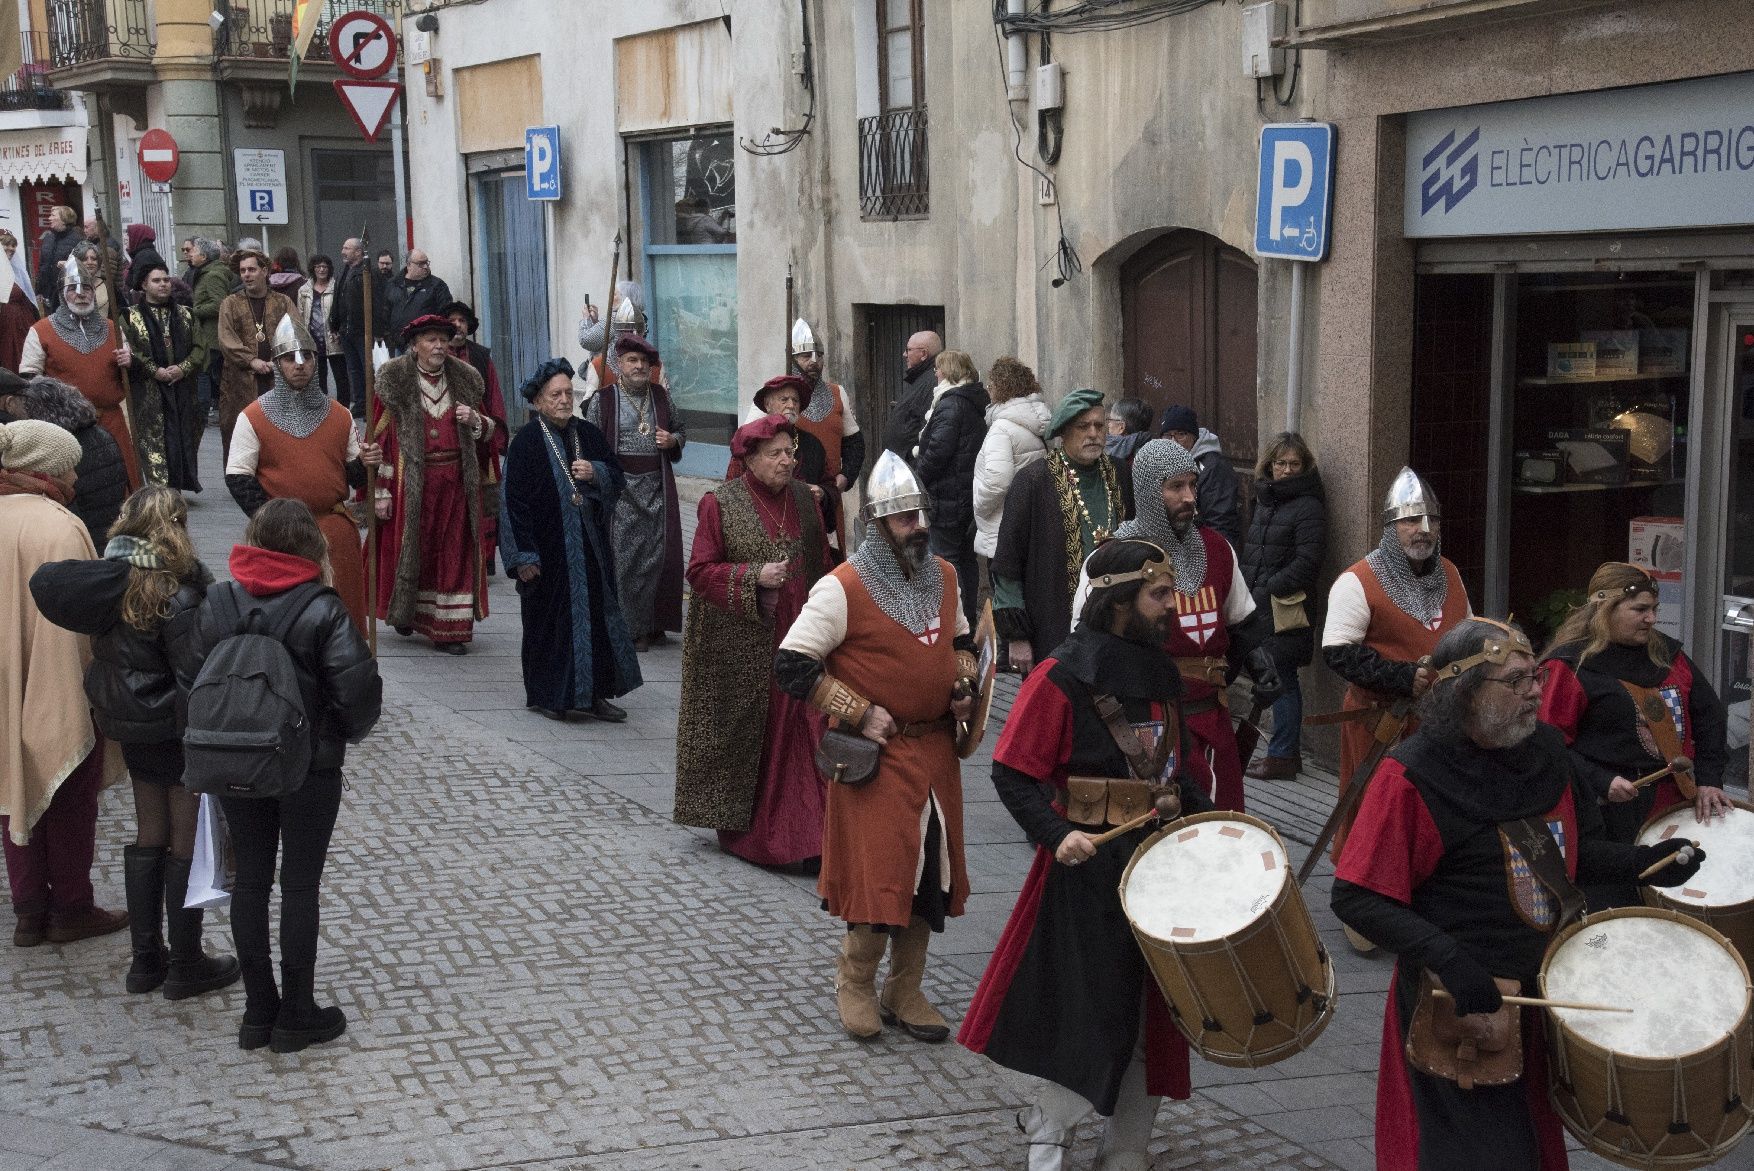
M1254 261L1203 231L1168 231L1121 265L1126 393L1184 403L1242 466L1256 456Z

